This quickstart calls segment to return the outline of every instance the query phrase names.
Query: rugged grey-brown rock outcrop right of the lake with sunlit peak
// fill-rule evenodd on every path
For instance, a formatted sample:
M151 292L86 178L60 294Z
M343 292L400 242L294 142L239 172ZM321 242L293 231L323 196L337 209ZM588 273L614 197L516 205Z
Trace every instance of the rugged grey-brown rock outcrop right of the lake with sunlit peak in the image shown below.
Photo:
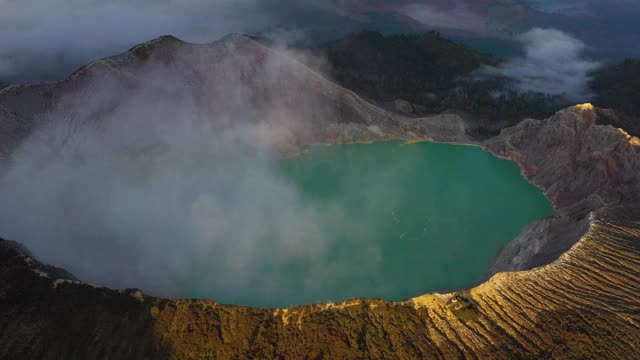
M597 125L601 112L578 105L548 120L523 121L487 141L490 152L517 162L556 210L503 249L493 273L547 264L587 230L589 214L637 207L640 141Z

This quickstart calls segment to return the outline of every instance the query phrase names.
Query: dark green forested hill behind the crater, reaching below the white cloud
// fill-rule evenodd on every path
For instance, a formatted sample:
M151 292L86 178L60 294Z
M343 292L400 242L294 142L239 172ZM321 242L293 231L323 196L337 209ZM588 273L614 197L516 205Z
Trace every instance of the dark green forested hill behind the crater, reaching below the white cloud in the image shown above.
M569 103L517 91L510 79L479 76L501 60L445 39L438 32L391 35L363 31L322 46L332 76L374 101L409 101L417 115L447 109L495 121L544 118Z

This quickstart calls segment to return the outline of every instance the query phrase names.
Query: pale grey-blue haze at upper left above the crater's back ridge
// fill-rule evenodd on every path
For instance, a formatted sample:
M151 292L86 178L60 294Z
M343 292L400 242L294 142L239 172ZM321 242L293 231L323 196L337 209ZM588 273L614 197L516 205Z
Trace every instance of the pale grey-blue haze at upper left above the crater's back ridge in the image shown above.
M160 35L210 42L269 22L259 0L0 0L0 79L38 81Z

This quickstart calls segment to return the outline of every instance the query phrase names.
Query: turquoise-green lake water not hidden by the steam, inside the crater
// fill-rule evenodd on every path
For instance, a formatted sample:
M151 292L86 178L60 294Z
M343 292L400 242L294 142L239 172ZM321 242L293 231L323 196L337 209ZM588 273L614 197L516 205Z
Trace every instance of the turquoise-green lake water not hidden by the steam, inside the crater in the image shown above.
M261 249L251 286L208 293L186 282L179 295L283 307L472 286L526 224L552 214L515 163L477 147L314 145L274 167L318 214L322 243L308 236L314 255L269 261Z

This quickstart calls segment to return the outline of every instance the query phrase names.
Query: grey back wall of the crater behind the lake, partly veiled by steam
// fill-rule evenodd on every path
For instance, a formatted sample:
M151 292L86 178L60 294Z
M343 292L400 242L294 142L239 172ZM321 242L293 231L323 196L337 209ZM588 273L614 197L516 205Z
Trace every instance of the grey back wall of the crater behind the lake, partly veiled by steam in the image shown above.
M99 122L118 104L136 101L134 94L144 95L146 102L188 97L211 118L270 123L289 134L283 142L291 146L423 139L426 133L440 141L466 139L460 116L416 121L392 115L248 37L229 35L195 45L164 36L93 62L61 82L0 90L0 158L8 158L22 139L46 126L53 111L67 121L85 116ZM264 118L266 110L278 119Z

